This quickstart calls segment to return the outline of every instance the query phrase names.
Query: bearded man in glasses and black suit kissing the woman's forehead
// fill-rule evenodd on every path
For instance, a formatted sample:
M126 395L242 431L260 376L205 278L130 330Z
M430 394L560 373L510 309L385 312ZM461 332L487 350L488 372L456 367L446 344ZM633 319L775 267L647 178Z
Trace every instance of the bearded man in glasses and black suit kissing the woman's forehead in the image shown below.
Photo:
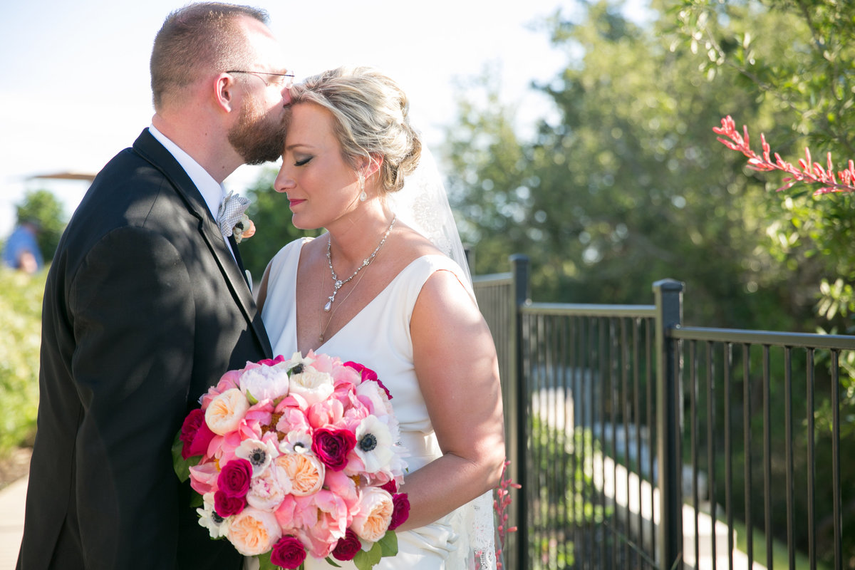
M223 179L280 155L289 72L266 22L220 3L168 16L152 126L98 174L62 237L21 570L241 566L198 525L170 448L222 373L271 356L237 244L215 221Z

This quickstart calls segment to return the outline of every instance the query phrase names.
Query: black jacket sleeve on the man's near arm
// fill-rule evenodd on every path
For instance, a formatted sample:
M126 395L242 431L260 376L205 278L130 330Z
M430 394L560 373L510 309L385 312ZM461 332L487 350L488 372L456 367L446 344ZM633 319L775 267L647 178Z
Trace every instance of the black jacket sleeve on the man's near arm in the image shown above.
M185 262L161 234L121 228L92 248L68 297L84 406L73 492L86 567L173 568L180 507L170 447L194 346Z

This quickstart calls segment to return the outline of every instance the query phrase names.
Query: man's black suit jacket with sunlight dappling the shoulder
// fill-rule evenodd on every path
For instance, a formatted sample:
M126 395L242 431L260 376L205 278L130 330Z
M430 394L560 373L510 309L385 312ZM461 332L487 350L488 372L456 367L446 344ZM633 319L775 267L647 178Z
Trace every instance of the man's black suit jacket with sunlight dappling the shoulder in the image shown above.
M50 267L18 568L237 570L170 448L222 373L270 356L201 194L146 129L97 175Z

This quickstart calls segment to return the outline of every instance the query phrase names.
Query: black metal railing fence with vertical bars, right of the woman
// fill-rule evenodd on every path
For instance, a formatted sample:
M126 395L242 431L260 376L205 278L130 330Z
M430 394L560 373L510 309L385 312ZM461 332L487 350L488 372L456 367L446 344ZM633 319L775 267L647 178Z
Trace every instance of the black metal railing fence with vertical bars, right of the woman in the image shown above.
M669 279L533 303L511 266L475 277L522 485L506 568L855 568L855 337L683 326Z

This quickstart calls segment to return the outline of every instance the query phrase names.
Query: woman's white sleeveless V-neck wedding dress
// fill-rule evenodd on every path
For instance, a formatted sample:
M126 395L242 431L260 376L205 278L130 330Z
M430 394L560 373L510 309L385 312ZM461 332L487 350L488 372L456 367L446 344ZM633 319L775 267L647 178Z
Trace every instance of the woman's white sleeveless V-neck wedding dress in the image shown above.
M297 350L297 267L300 250L310 239L301 238L286 245L270 264L262 318L274 355L287 358ZM432 273L443 270L457 275L475 299L468 274L455 261L441 255L419 257L316 350L345 361L357 361L378 374L392 393L392 407L400 422L410 471L441 455L413 367L410 316L422 285ZM406 491L405 486L402 491ZM469 570L475 568L475 555L479 553L481 568L494 569L492 514L492 493L486 493L428 526L398 532L398 555L383 558L375 568ZM339 565L356 568L351 562ZM326 561L311 558L306 559L305 567L306 570L332 568Z

